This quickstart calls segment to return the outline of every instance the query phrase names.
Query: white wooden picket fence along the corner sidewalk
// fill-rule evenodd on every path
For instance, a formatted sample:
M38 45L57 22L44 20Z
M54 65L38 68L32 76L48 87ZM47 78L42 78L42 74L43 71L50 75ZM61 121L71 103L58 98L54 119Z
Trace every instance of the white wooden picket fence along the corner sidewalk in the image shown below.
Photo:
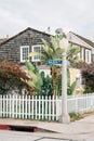
M94 93L68 97L69 113L94 111ZM62 99L51 97L0 95L0 117L58 120Z

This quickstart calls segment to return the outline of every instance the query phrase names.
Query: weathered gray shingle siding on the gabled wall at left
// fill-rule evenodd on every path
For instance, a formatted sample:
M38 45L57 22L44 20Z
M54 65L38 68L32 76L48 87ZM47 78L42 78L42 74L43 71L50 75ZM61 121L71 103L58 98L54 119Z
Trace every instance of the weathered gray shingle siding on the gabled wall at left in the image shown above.
M42 38L50 41L50 36L51 35L45 33L27 28L0 44L0 62L8 60L13 63L21 63L21 46L29 46L31 52L31 47L33 44L42 44Z

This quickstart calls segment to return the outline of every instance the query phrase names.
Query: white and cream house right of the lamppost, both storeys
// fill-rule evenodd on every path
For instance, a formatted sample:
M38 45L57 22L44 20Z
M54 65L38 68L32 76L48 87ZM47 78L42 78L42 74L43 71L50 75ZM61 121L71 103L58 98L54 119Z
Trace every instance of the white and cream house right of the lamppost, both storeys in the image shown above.
M68 33L68 41L72 46L76 44L80 47L80 53L78 55L83 62L88 64L94 63L94 42L71 31ZM70 68L70 74L71 82L77 79L76 93L81 93L84 88L84 84L82 84L81 70Z

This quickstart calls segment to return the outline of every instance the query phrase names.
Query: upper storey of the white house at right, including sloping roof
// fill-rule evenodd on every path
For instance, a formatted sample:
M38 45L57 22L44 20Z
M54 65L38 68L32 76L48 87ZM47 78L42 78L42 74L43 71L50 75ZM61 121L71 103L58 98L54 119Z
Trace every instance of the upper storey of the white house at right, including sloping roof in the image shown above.
M71 31L68 34L68 41L80 47L79 56L82 61L88 64L94 62L94 42Z

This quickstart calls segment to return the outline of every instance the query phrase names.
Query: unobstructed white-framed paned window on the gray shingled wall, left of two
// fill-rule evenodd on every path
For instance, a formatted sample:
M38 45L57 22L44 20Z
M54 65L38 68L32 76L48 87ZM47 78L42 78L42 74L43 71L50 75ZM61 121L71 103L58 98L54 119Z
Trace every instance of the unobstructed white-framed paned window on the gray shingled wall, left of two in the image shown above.
M27 61L28 54L29 54L29 46L22 46L21 47L21 62Z

